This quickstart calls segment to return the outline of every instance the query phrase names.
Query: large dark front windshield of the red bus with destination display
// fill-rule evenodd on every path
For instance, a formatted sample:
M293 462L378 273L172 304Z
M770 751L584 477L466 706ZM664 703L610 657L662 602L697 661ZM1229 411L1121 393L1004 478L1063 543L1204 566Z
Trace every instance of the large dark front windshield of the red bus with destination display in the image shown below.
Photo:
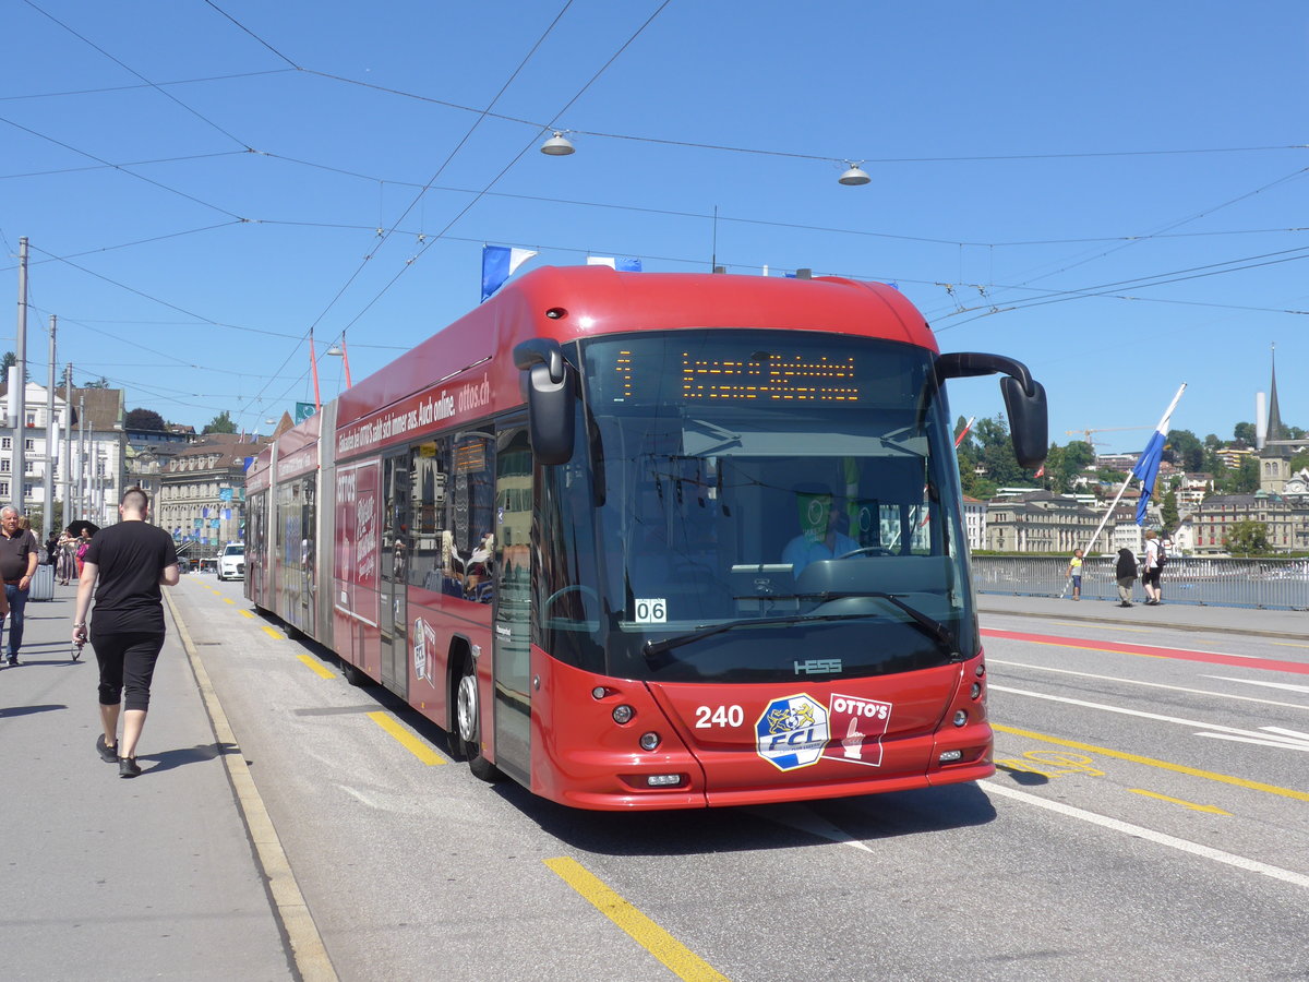
M651 681L825 681L975 653L932 354L821 333L583 342L547 469L556 657Z

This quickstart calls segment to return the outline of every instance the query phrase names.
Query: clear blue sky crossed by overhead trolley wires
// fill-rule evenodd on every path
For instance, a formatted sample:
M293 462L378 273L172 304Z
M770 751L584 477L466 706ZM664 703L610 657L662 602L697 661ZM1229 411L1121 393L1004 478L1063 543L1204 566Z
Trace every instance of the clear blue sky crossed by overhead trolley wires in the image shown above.
M5 0L0 35L31 374L58 314L128 409L266 431L313 399L310 327L357 381L478 302L490 242L895 282L942 350L1031 367L1054 441L1143 427L1102 450L1183 381L1173 426L1230 437L1276 344L1309 427L1299 0Z

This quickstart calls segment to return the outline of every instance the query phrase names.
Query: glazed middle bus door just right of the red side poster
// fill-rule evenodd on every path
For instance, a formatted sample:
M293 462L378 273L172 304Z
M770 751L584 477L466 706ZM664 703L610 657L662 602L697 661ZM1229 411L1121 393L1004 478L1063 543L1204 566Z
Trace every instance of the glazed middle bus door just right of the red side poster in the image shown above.
M382 646L381 683L408 698L408 453L382 461L382 541L378 550L377 627Z

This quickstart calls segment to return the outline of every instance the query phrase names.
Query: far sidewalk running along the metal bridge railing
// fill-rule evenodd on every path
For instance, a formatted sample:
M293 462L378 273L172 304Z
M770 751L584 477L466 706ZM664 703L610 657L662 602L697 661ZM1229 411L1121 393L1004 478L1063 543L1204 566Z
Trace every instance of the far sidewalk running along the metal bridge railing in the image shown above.
M1254 638L1309 639L1309 611L1305 610L1253 610L1250 608L1203 606L1199 604L1169 604L1165 594L1158 606L1135 604L1118 606L1118 601L1080 600L1068 597L1021 597L1008 593L979 593L978 611L983 627L987 614L1014 614L1018 617L1054 617L1060 621L1096 621L1124 625L1149 625L1177 631L1233 631Z

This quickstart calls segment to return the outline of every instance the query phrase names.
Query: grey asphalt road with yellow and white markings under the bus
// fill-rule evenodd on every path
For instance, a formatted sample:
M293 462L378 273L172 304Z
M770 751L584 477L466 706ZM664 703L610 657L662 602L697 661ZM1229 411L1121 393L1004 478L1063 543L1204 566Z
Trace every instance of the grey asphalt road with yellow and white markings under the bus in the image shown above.
M603 814L474 779L240 591L171 596L343 979L1309 973L1309 639L984 614L994 779Z

